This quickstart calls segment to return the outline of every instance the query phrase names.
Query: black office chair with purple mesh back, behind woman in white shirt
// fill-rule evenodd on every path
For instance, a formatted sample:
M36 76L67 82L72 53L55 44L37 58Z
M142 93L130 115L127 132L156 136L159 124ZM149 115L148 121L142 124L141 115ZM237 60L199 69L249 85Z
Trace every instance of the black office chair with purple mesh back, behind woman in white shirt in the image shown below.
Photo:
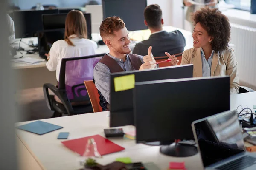
M59 117L62 114L75 115L93 112L84 80L93 79L93 68L104 55L97 54L61 60L58 88L49 83L43 86L47 107L55 111L52 117ZM54 95L49 95L49 89Z

